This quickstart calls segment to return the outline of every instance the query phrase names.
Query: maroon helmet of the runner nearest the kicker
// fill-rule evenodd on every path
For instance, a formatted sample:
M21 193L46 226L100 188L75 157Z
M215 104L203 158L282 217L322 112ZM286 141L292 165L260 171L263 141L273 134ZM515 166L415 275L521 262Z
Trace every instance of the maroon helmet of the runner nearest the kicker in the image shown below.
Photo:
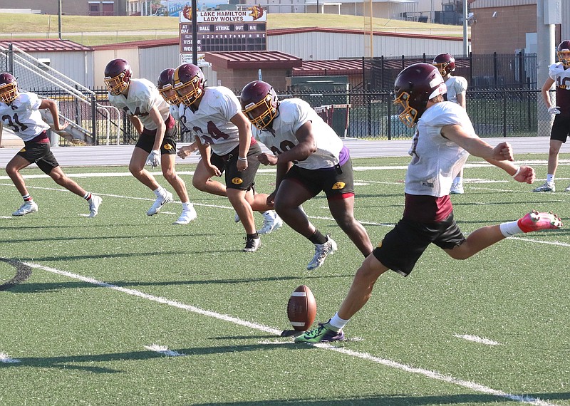
M242 111L259 130L276 118L279 100L269 83L261 80L247 83L242 90L241 101Z

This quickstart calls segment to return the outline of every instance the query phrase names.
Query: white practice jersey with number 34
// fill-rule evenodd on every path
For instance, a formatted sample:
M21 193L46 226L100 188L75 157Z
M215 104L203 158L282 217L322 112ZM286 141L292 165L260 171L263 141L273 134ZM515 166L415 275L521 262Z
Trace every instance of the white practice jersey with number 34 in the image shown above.
M217 155L226 155L239 145L239 130L230 120L240 111L242 106L232 90L214 86L204 89L195 112L182 103L180 120L185 120L203 145L209 145Z

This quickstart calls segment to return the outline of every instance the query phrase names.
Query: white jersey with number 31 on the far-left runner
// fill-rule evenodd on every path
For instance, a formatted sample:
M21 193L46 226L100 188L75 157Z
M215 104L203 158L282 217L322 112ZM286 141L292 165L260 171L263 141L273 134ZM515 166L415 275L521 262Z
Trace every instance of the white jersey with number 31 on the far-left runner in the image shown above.
M13 130L24 142L33 140L41 132L49 130L49 125L41 118L40 105L38 95L28 92L19 92L10 105L0 102L4 127Z

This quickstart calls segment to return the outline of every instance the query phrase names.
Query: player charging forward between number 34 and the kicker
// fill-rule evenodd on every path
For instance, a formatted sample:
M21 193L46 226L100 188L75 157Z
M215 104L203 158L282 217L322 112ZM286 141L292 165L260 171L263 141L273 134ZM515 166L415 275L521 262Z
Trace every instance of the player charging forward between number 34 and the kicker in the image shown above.
M281 219L315 245L307 269L323 264L336 251L331 236L309 222L301 204L324 191L336 223L366 257L372 244L354 218L354 180L348 148L309 103L298 98L279 101L269 83L254 80L241 95L242 111L253 124L254 136L273 154L257 156L264 165L277 165L275 190L268 202Z

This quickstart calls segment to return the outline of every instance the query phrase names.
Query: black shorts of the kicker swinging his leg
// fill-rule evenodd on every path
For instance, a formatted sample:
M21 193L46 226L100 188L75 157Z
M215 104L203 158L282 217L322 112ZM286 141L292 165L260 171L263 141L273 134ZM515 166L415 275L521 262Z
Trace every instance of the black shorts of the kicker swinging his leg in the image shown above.
M435 223L413 222L404 218L384 236L372 254L384 266L408 276L431 243L441 249L452 249L464 242L465 236L455 224L453 212L447 219Z

